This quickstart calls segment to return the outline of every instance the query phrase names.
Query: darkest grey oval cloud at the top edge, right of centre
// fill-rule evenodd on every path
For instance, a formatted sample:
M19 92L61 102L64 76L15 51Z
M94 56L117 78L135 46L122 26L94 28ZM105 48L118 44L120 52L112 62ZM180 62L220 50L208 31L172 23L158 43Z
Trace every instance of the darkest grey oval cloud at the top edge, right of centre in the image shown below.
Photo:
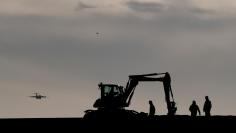
M164 4L157 2L128 1L126 5L137 12L160 12L167 8Z

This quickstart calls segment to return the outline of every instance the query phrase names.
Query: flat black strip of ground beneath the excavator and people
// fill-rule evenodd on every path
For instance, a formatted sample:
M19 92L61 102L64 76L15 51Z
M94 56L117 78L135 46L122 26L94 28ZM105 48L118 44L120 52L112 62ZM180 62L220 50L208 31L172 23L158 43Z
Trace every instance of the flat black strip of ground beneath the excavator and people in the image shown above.
M236 116L156 116L143 120L83 120L82 118L0 119L1 129L17 131L176 131L221 130L235 132Z

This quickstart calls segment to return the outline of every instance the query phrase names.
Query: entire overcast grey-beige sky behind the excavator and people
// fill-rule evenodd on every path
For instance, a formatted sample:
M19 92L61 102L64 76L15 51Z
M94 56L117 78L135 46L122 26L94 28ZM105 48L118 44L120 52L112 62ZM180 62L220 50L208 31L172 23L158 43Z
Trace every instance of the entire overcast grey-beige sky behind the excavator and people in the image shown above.
M235 0L0 0L0 117L81 117L98 83L166 71L177 114L208 95L213 115L236 115L235 13ZM128 109L148 100L167 113L162 83L140 83Z

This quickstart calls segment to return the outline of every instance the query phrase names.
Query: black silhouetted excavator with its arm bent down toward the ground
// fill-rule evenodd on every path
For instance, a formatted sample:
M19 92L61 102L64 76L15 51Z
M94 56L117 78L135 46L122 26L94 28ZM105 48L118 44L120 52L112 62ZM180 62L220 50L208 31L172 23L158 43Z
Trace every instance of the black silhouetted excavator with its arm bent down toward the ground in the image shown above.
M98 86L101 90L101 98L97 99L93 105L93 107L97 108L97 110L86 110L84 119L139 118L141 113L138 113L134 110L126 110L125 107L130 105L134 90L141 81L163 82L165 100L168 109L167 115L175 115L177 108L175 107L175 101L171 88L171 77L170 74L166 72L130 75L126 88L115 84L100 83Z

